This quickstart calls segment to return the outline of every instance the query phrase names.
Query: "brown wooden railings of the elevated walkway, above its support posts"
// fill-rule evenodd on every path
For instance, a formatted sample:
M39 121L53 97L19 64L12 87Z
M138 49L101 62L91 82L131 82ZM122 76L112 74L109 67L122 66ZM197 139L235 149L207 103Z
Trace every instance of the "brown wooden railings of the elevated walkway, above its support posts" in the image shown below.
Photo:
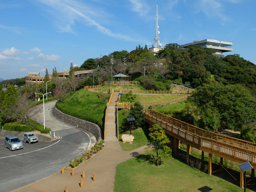
M149 113L145 113L145 118L151 124L162 126L173 137L199 150L237 163L249 161L253 168L256 168L256 145L253 142L206 131L150 109Z

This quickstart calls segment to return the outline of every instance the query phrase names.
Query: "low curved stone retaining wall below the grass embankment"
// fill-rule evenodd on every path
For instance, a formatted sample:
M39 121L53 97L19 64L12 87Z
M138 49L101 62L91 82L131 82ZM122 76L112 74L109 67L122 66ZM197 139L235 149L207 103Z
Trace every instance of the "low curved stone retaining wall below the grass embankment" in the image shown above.
M100 127L98 125L91 123L89 121L85 121L85 120L67 115L65 113L62 113L59 109L57 109L56 106L53 108L52 114L54 117L60 119L65 123L68 123L74 126L78 125L79 128L89 131L95 136L95 138L97 139L97 142L100 141L101 133L100 133Z

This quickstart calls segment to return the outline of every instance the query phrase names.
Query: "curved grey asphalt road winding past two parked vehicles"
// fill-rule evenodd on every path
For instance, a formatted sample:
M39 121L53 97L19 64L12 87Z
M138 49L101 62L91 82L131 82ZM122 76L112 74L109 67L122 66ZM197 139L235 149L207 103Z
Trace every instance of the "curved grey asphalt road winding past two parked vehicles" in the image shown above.
M56 101L45 103L45 126L58 134L58 139L29 145L24 149L10 151L0 139L0 191L11 191L37 180L48 177L69 164L70 160L80 157L96 142L95 137L85 130L56 119L51 111ZM43 123L43 105L33 110L31 117ZM20 138L22 139L22 138Z

